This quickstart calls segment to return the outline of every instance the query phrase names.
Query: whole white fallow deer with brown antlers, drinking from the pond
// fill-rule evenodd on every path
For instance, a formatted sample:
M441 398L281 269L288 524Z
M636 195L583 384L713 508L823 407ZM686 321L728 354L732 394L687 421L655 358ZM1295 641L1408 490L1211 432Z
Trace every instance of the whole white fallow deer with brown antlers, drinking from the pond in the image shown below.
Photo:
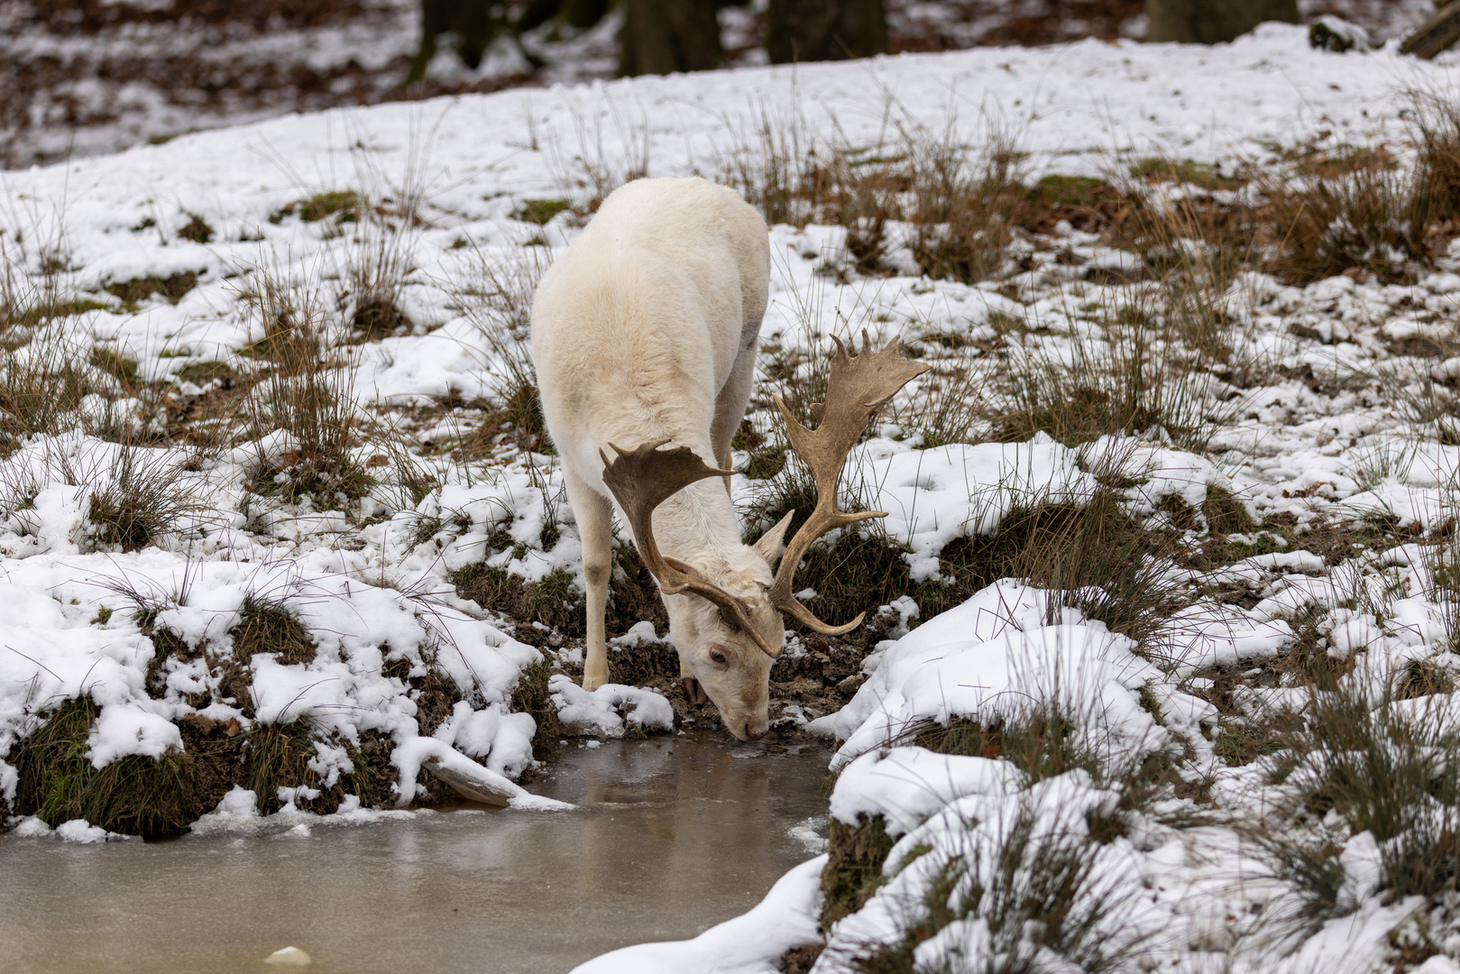
M730 440L750 400L768 285L765 222L733 190L698 178L638 180L609 196L533 301L543 416L583 537L583 686L609 679L616 508L658 581L686 694L695 702L708 695L742 740L769 724L783 612L825 634L861 622L858 615L826 625L791 594L791 577L826 532L883 517L840 511L837 482L877 407L927 368L904 358L896 340L872 353L864 337L861 355L838 342L815 431L777 399L818 499L774 571L791 515L743 543L720 483L730 470L717 466L730 466Z

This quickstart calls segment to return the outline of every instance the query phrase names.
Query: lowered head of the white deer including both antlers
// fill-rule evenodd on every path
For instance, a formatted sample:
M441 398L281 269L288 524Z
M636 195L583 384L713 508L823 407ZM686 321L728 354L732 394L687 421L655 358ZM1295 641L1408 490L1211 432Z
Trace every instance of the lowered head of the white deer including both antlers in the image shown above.
M837 342L826 384L826 402L812 407L816 429L797 422L777 396L785 432L816 480L816 507L785 545L775 568L791 514L718 564L689 565L660 553L654 543L654 508L677 491L705 478L729 476L701 460L689 447L660 450L667 440L635 450L613 445L603 456L603 482L629 520L644 565L658 580L670 618L670 638L680 659L720 708L726 727L742 740L765 735L769 726L771 664L781 654L790 615L813 632L841 635L861 625L866 613L845 625L826 625L793 594L796 568L812 543L831 530L883 511L847 513L837 507L837 483L847 454L861 438L872 416L910 380L927 369L901 352L894 339L880 352L863 333L861 355L848 355ZM612 445L612 444L610 444Z

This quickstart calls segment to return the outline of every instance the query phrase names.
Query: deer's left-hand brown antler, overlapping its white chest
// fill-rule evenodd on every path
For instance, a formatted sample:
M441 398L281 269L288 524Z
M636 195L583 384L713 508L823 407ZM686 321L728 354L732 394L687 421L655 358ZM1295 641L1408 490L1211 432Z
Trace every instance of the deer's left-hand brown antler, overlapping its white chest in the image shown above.
M607 454L599 450L599 456L603 457L603 482L629 518L629 529L634 532L639 558L658 578L658 587L664 594L675 596L689 591L710 600L720 609L720 618L729 625L745 631L768 656L777 656L778 651L772 650L765 637L756 631L739 599L701 575L691 565L667 558L658 551L658 545L654 542L654 508L695 480L733 473L733 470L711 467L689 447L660 450L666 442L669 440L645 442L634 450L623 450L610 442L609 445L619 454L613 460L609 460Z

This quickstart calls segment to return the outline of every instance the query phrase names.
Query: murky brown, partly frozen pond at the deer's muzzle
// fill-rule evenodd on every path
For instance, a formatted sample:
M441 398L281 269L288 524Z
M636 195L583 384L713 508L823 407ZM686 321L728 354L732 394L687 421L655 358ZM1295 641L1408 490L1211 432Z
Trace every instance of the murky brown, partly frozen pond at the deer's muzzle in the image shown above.
M574 812L158 844L0 837L0 971L264 974L286 945L318 974L566 971L755 905L818 851L828 756L717 737L569 743L531 790Z

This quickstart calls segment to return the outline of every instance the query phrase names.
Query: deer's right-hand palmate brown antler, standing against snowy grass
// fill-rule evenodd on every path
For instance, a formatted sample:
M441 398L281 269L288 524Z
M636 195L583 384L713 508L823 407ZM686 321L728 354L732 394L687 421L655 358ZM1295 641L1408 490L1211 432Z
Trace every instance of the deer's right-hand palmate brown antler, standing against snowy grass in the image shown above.
M791 448L806 463L816 480L816 507L802 529L796 532L796 537L785 546L781 567L775 572L775 584L771 586L771 603L815 632L841 635L861 625L861 619L867 613L860 613L847 625L826 625L810 609L797 602L796 596L791 594L791 581L797 565L818 537L869 517L886 517L885 511L847 513L840 510L837 507L837 485L841 480L841 469L847 463L847 454L857 445L867 423L899 388L926 372L927 364L915 362L902 355L901 339L892 339L880 352L873 352L872 340L863 331L861 355L856 353L856 343L853 343L853 353L848 355L841 339L832 336L832 340L837 343L837 353L831 359L826 402L812 406L813 415L818 412L818 406L821 407L816 429L812 431L799 423L781 397L775 397L775 404L785 419L785 435L791 441Z

